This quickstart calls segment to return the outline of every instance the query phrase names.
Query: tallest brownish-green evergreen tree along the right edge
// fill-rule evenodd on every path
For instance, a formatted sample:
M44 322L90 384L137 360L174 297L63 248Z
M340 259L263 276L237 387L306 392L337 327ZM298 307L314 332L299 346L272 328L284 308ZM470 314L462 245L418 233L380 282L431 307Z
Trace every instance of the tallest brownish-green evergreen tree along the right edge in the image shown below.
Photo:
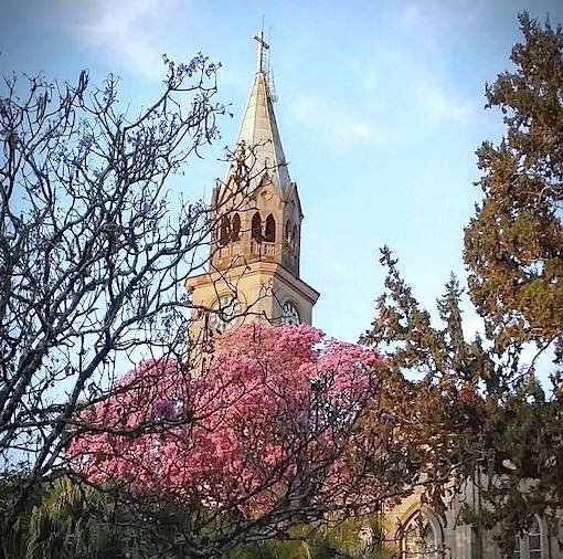
M563 33L527 13L520 24L524 41L512 49L514 68L486 89L487 107L500 108L507 129L499 146L477 150L485 198L465 231L469 293L491 356L503 357L498 399L488 394L485 441L491 470L504 475L484 497L493 505L486 524L500 523L507 532L525 527L534 513L550 520L563 506L561 372L553 371L549 397L535 379L545 349L554 348L554 365L561 363ZM535 356L522 368L519 357L530 342Z

